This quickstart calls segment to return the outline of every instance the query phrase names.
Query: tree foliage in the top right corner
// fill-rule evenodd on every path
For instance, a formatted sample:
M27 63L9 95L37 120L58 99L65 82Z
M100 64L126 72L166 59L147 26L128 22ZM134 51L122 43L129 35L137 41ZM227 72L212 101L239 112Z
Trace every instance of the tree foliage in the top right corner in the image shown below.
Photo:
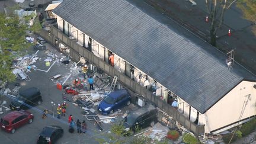
M236 7L242 10L244 18L254 23L252 30L256 36L256 1L238 0Z

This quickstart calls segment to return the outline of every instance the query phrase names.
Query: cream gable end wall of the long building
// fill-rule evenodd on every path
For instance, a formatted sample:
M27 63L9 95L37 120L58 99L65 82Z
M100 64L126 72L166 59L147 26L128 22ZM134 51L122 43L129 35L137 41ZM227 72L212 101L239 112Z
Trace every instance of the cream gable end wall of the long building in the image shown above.
M200 123L206 123L206 133L238 121L243 109L241 120L254 116L256 114L256 89L253 85L255 84L256 82L242 81L206 113L200 115ZM247 103L246 106L245 103Z

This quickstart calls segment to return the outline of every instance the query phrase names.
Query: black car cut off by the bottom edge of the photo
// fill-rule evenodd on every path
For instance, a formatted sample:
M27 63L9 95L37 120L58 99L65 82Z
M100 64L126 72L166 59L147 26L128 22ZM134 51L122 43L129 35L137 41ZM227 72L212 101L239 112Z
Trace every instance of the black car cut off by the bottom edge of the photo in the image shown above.
M40 133L37 144L53 144L56 143L57 140L63 136L63 129L60 126L47 126L44 127L42 132Z

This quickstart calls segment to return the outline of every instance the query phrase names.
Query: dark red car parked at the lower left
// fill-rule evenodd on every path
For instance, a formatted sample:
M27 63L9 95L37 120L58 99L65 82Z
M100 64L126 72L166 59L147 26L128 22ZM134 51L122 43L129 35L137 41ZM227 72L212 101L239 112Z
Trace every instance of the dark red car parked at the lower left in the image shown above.
M28 111L12 111L1 119L0 126L7 132L15 133L16 129L24 124L32 123L33 119L33 114Z

